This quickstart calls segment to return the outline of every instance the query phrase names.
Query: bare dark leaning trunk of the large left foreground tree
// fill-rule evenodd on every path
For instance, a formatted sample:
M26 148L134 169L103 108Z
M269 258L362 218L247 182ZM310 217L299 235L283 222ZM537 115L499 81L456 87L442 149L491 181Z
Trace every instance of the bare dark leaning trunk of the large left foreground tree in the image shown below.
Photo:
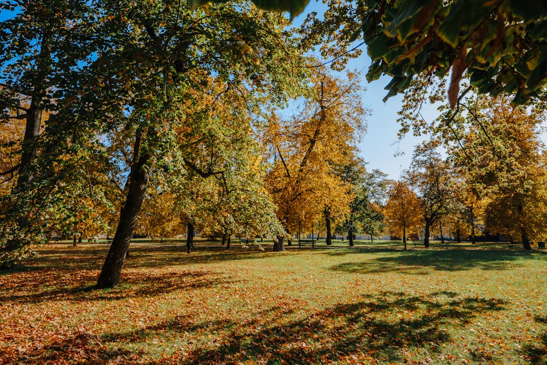
M146 164L150 160L149 154L138 158L137 163L131 167L129 190L124 207L121 208L120 222L114 234L112 245L104 260L101 274L97 280L96 288L114 288L120 282L121 268L131 243L138 213L141 211L144 194L148 187L150 175Z

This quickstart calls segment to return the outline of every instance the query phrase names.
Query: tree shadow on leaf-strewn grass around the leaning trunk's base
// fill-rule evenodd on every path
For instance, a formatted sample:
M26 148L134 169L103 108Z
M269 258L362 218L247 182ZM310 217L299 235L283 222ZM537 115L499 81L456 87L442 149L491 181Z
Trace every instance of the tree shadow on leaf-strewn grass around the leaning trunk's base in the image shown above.
M0 303L40 303L48 300L119 300L159 296L229 283L226 275L205 270L125 270L118 288L94 290L96 270L46 270L13 275L0 290ZM83 284L82 284L83 283Z

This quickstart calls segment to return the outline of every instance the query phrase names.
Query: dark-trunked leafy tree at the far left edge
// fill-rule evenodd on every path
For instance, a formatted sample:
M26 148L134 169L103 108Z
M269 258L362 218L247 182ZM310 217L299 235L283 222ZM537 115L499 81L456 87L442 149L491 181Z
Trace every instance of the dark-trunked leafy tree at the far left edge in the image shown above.
M20 262L26 246L43 241L40 237L48 222L41 217L55 215L45 212L48 206L66 205L69 195L90 194L77 177L81 171L66 168L69 161L82 160L84 153L79 149L86 138L76 134L67 139L67 129L60 133L60 126L70 114L62 112L69 104L65 91L82 80L86 60L101 48L102 38L90 37L95 30L94 5L63 0L0 5L7 14L0 30L0 123L25 121L24 134L9 141L11 161L17 163L0 171L15 182L9 194L0 197L3 266L15 264L9 257ZM71 189L58 188L72 179Z

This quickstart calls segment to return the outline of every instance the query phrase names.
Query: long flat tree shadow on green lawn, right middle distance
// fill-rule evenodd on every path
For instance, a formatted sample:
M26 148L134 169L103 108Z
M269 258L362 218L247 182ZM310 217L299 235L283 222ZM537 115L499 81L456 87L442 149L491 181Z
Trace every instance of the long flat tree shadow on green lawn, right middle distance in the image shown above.
M356 253L391 253L366 262L348 262L331 267L332 270L351 273L427 274L428 270L461 271L473 268L505 270L514 268L516 260L530 258L529 252L509 250L355 250ZM334 253L344 255L345 253ZM351 254L351 253L347 253Z

